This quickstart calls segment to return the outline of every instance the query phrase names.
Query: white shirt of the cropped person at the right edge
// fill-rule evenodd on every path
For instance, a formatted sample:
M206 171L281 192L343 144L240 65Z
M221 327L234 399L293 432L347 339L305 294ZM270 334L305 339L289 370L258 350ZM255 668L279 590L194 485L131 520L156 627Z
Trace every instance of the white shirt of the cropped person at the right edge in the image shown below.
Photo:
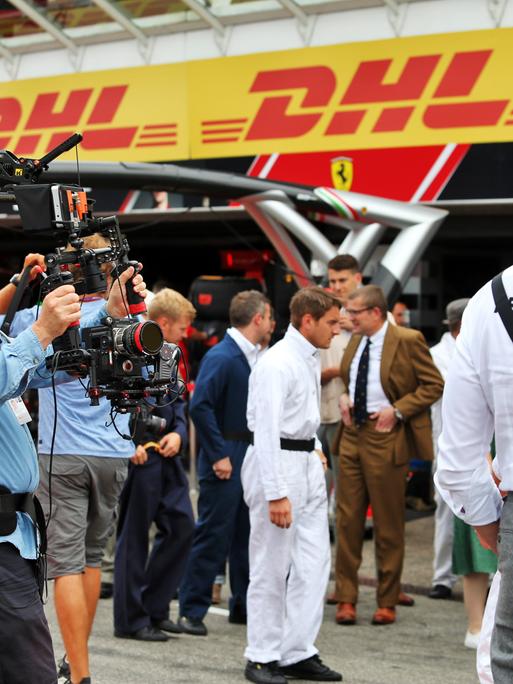
M513 296L513 266L503 273ZM463 313L442 400L435 483L454 513L471 525L500 517L502 499L486 460L495 432L494 470L513 490L513 341L495 313L491 283Z

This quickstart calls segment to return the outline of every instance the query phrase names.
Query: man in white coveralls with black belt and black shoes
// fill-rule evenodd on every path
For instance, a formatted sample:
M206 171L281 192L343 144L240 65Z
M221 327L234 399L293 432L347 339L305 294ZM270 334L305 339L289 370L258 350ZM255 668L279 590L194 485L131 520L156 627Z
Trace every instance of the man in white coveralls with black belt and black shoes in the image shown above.
M248 663L257 684L337 682L314 646L330 571L326 459L319 427L319 349L340 330L340 302L318 287L291 300L285 337L250 377L253 446L242 469L251 519Z

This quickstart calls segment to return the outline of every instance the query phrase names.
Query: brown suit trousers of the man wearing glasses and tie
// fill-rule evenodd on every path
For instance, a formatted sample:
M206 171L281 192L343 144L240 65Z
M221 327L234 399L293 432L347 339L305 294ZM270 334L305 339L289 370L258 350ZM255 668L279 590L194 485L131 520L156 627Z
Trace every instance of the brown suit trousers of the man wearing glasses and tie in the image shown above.
M408 465L396 465L397 426L377 432L375 421L361 428L345 427L340 444L337 487L337 559L335 595L342 603L358 599L365 516L369 503L374 518L380 608L397 604L404 560L405 492Z

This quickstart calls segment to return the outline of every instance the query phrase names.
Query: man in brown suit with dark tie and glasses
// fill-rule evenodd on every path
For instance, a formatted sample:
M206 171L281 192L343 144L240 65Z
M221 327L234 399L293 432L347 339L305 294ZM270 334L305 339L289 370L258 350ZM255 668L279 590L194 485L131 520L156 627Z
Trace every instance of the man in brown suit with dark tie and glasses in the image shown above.
M406 476L412 454L433 458L429 407L443 380L423 335L387 322L381 288L349 295L353 336L342 358L338 453L336 621L356 622L365 514L374 517L378 609L373 624L395 622L404 558ZM335 446L335 445L334 445Z

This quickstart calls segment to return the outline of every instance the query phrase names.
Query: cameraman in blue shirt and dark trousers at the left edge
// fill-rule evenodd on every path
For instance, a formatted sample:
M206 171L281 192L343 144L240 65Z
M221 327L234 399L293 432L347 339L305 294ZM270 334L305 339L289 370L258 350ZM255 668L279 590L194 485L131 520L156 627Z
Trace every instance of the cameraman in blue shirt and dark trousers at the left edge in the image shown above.
M132 275L132 268L121 275L121 287L113 292L107 307L100 315L84 321L84 326L98 324L107 313L122 315L125 283ZM141 276L136 276L134 285L144 296ZM2 306L8 305L13 294L12 285L0 291ZM0 669L9 684L57 681L51 637L35 577L38 548L34 524L30 515L17 510L20 504L9 492L34 492L39 479L37 455L26 425L30 417L23 410L21 394L29 385L50 382L44 371L45 350L80 314L73 286L63 285L46 297L38 320L16 339L0 333L0 637L4 646L11 644L11 648L2 648Z

